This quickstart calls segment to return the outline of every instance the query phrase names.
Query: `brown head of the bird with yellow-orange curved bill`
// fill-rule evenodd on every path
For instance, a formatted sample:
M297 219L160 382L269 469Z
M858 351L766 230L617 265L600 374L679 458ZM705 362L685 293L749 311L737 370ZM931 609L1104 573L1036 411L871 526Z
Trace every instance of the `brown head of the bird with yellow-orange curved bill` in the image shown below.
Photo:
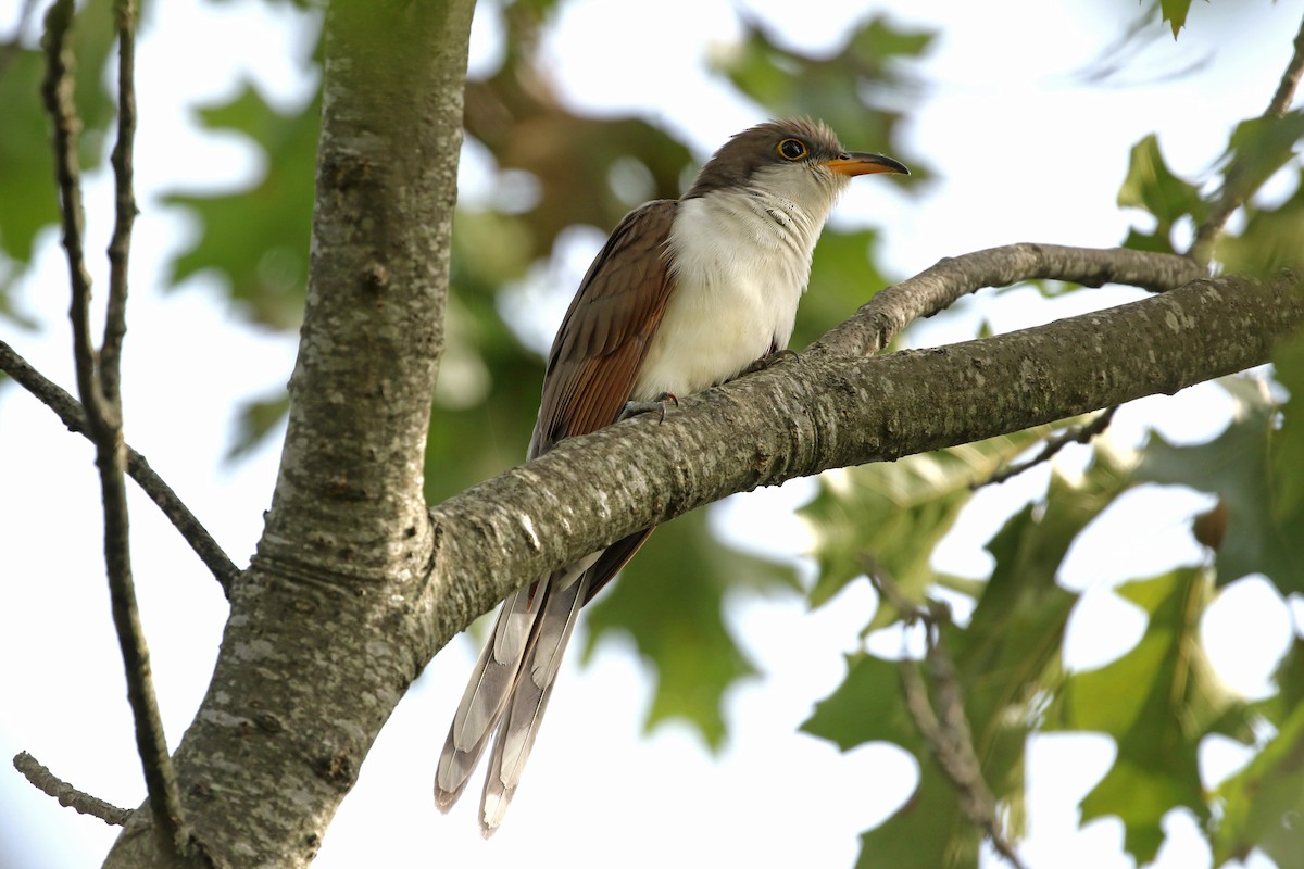
M848 151L823 122L767 121L725 142L702 167L683 198L715 190L755 190L827 214L853 177L878 172L910 175L905 164L889 156Z

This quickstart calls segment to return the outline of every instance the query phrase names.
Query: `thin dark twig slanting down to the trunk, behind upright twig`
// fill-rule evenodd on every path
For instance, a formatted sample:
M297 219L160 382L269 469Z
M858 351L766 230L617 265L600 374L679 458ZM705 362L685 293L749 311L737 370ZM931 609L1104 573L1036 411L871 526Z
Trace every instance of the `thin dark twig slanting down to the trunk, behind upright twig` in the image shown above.
M90 438L86 412L82 410L77 399L68 395L56 383L31 367L26 360L18 356L4 341L0 341L0 371L12 377L18 386L27 390L27 392L53 410L69 431ZM181 537L190 545L190 548L200 556L205 567L213 572L222 590L230 595L232 584L240 576L240 568L222 550L222 546L213 539L213 535L203 524L185 506L185 502L150 468L145 456L132 449L130 446L126 447L126 473L158 504L158 508L163 511L163 515L181 533Z

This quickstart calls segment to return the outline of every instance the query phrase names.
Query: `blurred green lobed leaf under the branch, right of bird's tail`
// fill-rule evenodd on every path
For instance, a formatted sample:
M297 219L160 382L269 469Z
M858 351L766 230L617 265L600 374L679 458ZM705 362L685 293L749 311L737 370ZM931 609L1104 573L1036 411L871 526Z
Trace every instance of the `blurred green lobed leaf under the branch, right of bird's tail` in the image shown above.
M659 528L647 546L585 607L585 659L608 631L632 637L655 668L647 727L673 718L692 724L712 749L725 737L725 691L756 668L724 623L725 593L738 586L795 590L789 565L726 550L705 511Z

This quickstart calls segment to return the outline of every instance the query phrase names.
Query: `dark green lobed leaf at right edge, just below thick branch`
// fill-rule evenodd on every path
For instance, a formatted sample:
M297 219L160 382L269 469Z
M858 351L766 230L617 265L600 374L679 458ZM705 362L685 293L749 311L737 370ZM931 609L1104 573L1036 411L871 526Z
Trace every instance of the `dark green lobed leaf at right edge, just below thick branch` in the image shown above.
M1297 360L1287 362L1290 371L1299 365ZM1278 431L1279 408L1262 382L1234 377L1218 383L1236 400L1227 430L1189 447L1172 446L1153 434L1142 451L1137 481L1191 486L1223 502L1227 534L1217 554L1219 585L1262 572L1283 594L1304 590L1304 542L1299 535L1304 499L1295 481L1301 453L1292 452L1299 447L1299 423Z

